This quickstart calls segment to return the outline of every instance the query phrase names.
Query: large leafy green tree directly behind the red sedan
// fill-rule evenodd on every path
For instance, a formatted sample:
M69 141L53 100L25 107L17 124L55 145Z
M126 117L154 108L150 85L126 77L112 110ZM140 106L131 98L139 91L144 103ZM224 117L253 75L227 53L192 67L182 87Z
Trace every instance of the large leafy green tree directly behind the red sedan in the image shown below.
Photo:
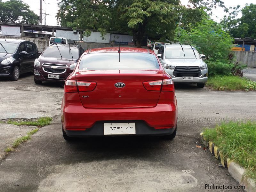
M205 17L206 9L213 5L224 6L220 0L190 0L199 9L186 9L180 0L61 0L57 20L61 26L85 29L85 36L98 30L103 37L106 30L128 32L134 36L138 47L143 36L160 36L163 41L172 41L175 28L184 12L184 26L196 23ZM192 18L196 16L195 18Z

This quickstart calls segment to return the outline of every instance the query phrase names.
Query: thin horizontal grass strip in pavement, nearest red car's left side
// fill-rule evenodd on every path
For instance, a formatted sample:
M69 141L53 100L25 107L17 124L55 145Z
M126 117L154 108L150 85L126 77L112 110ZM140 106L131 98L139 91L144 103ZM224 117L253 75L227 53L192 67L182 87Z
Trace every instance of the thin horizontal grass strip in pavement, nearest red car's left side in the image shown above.
M38 126L43 127L45 125L49 125L52 122L51 117L41 117L35 121L12 121L9 119L7 121L8 124L14 124L14 125L29 125L29 126Z

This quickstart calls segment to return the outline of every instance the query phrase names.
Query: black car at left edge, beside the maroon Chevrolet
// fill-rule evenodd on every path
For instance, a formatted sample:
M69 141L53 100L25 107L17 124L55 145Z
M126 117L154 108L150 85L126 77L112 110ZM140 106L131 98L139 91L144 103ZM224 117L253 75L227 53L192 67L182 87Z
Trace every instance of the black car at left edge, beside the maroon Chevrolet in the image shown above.
M20 39L0 39L0 76L17 81L22 73L33 72L38 52L34 42Z

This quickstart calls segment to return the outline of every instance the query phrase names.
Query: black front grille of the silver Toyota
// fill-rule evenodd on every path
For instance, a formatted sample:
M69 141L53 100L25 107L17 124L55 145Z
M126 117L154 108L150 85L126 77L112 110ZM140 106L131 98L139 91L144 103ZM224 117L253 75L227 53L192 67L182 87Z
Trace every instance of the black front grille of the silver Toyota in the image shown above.
M199 67L190 67L186 69L187 66L177 66L173 71L173 76L175 77L200 77L202 75Z

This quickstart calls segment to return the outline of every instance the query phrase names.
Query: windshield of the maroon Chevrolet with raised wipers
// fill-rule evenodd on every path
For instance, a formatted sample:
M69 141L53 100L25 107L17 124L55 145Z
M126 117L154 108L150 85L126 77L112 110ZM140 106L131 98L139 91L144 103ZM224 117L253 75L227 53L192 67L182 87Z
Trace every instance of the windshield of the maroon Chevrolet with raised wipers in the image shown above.
M71 59L72 60L71 53L69 54L68 46L63 47L63 46L59 45L58 47L60 49L60 52L55 44L52 46L48 46L44 50L42 56L43 57L53 57L53 58L61 58L61 56L62 56L63 59ZM74 60L78 59L78 57L79 57L78 49L71 47L71 46L70 46L70 49L71 49ZM61 56L60 56L60 53L61 53Z

